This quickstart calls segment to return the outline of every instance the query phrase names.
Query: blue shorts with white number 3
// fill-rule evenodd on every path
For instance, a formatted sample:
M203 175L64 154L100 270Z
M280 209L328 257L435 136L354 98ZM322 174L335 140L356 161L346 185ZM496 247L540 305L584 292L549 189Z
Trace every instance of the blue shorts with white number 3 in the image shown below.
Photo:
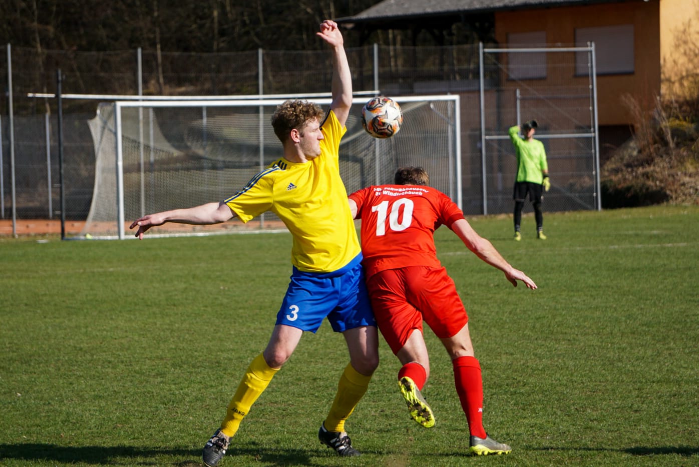
M331 273L306 273L294 268L277 324L315 333L328 318L333 331L376 326L364 284L361 253Z

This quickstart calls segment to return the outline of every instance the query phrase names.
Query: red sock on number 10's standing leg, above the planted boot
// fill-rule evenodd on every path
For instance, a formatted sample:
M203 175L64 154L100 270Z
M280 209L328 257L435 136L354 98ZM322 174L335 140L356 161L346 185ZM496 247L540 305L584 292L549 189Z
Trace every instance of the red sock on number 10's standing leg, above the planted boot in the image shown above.
M483 380L480 364L475 357L459 357L452 361L454 383L459 394L461 408L466 413L468 431L472 436L485 438L483 428Z

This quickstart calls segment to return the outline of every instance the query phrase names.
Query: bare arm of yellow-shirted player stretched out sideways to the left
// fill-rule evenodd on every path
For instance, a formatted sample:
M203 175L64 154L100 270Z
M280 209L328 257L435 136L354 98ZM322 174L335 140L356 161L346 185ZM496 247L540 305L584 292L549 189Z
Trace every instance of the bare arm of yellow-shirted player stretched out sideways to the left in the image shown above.
M140 219L136 219L131 223L129 229L134 229L138 226L135 236L139 240L143 240L143 234L151 227L156 227L166 222L175 222L176 224L220 224L227 220L233 219L235 213L231 211L223 201L219 203L206 203L201 206L186 209L173 209L163 211L162 213L149 214Z

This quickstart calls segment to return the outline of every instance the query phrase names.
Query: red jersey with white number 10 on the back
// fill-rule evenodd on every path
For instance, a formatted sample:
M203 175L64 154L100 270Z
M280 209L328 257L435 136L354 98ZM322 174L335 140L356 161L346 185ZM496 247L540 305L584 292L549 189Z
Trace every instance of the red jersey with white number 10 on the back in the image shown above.
M449 196L422 185L366 187L349 195L361 219L361 253L366 277L405 266L442 265L434 231L463 219Z

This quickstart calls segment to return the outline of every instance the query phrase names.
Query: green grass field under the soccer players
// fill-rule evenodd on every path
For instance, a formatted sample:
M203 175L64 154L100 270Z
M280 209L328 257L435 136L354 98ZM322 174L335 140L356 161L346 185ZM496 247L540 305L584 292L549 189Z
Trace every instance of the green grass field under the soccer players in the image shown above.
M447 229L442 264L470 316L484 424L505 457L471 458L451 364L428 331L408 417L381 343L340 459L319 424L347 363L323 324L253 406L226 466L699 465L699 206L469 219L539 286L514 289ZM287 234L65 241L0 238L0 465L190 466L266 345Z

